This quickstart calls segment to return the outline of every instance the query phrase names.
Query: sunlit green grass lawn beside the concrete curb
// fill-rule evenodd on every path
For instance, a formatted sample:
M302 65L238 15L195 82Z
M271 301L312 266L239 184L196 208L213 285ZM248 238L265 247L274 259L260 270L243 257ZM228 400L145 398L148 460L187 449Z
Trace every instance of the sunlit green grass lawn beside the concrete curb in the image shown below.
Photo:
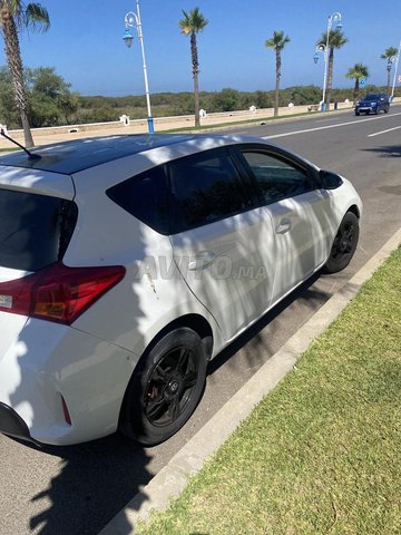
M401 247L141 535L401 533Z

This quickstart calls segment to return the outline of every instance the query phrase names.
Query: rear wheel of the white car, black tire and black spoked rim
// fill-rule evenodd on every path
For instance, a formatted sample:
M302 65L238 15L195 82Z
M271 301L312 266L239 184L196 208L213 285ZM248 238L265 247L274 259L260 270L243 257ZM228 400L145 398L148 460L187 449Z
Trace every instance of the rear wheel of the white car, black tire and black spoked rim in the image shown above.
M119 430L145 446L167 440L196 409L206 366L206 347L195 331L167 333L139 360L123 401Z

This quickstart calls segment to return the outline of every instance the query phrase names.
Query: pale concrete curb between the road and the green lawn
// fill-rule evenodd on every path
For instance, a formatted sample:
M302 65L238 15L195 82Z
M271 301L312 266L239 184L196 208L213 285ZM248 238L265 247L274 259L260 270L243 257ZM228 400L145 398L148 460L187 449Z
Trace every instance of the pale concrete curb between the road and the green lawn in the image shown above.
M296 360L334 321L380 264L401 243L401 228L225 403L224 407L121 509L99 535L129 535L149 513L164 510L205 460L232 435L254 407L292 370Z

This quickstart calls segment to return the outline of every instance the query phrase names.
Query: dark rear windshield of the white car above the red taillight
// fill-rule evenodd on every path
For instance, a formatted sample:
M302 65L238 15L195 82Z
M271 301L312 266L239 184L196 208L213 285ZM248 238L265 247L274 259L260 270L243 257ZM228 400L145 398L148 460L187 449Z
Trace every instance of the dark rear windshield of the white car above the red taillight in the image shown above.
M77 215L71 201L0 188L0 268L38 271L61 260Z

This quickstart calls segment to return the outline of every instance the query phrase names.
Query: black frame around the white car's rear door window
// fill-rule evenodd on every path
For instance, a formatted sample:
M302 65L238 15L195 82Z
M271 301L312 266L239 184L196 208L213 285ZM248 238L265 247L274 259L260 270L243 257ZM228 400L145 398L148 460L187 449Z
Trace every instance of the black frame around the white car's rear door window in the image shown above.
M194 153L187 156L183 156L176 159L172 159L170 162L166 163L166 175L167 175L167 188L168 188L168 204L169 204L169 227L170 227L170 235L175 234L180 234L183 232L188 232L193 231L195 228L200 228L203 226L207 225L213 225L214 223L217 223L219 221L224 221L228 217L234 217L235 215L244 214L246 212L250 212L251 210L254 208L254 200L253 196L250 195L250 192L247 191L246 187L246 182L247 177L244 176L244 173L242 169L238 167L237 160L235 157L233 157L232 154L232 146L224 146L224 147L217 147L217 148L211 148L208 150L202 150L198 153ZM188 162L188 160L203 160L203 159L211 159L213 157L218 157L219 155L225 156L232 164L233 168L236 172L237 175L237 183L238 186L244 195L244 201L246 203L246 206L243 210L239 211L233 211L229 214L225 214L223 216L217 216L212 221L205 221L204 223L199 224L194 224L194 225L186 225L184 228L179 228L179 225L175 224L175 210L174 210L174 196L173 196L173 184L172 184L172 172L170 167L173 165L176 165L177 163L183 163L183 162ZM179 230L177 230L177 227Z

